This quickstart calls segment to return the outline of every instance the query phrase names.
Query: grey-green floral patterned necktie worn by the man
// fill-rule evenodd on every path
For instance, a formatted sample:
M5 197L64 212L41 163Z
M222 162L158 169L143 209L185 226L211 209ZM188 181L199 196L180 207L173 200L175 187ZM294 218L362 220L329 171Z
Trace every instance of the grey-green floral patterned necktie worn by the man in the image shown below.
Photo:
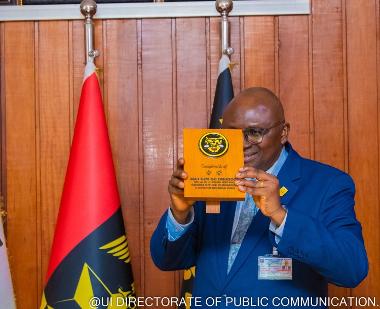
M243 242L244 236L247 233L247 229L252 222L253 217L256 215L258 208L253 202L252 196L249 194L247 201L245 202L243 209L240 213L238 226L236 227L234 237L232 238L230 245L229 260L227 264L227 274L230 273L232 264L235 261L238 251Z

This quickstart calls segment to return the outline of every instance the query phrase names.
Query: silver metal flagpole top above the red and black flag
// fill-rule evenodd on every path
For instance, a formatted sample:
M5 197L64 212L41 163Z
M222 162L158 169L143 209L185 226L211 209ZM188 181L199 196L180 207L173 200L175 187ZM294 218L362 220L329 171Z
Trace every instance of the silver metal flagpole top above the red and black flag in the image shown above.
M94 0L83 0L81 3L81 13L86 17L85 22L85 59L86 63L94 62L94 58L99 56L99 52L94 50L94 23L92 17L96 14L97 6Z

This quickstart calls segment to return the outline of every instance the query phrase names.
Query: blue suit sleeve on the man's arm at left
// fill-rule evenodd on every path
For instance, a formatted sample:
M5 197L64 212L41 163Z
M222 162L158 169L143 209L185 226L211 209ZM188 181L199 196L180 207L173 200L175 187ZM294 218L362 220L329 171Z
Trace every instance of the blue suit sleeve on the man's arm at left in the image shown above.
M169 241L166 221L168 210L150 239L150 255L155 265L162 271L177 271L193 267L196 261L198 243L198 211L195 208L194 221L183 235L174 241Z

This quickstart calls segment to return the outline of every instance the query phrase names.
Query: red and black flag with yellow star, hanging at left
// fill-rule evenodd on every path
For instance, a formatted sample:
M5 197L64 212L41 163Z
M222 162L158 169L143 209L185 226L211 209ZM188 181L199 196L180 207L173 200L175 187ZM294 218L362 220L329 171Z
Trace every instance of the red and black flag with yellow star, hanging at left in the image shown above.
M107 308L126 297L135 297L130 255L99 82L89 62L40 309Z

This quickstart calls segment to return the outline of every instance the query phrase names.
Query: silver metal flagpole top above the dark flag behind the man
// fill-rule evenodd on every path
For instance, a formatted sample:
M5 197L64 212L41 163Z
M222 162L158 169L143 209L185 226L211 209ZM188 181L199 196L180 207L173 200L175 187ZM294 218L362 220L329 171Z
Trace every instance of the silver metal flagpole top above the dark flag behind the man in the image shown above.
M219 38L220 38L220 57L227 55L229 58L234 53L231 47L231 22L229 21L229 14L234 8L232 0L216 0L215 8L221 15L219 21Z

